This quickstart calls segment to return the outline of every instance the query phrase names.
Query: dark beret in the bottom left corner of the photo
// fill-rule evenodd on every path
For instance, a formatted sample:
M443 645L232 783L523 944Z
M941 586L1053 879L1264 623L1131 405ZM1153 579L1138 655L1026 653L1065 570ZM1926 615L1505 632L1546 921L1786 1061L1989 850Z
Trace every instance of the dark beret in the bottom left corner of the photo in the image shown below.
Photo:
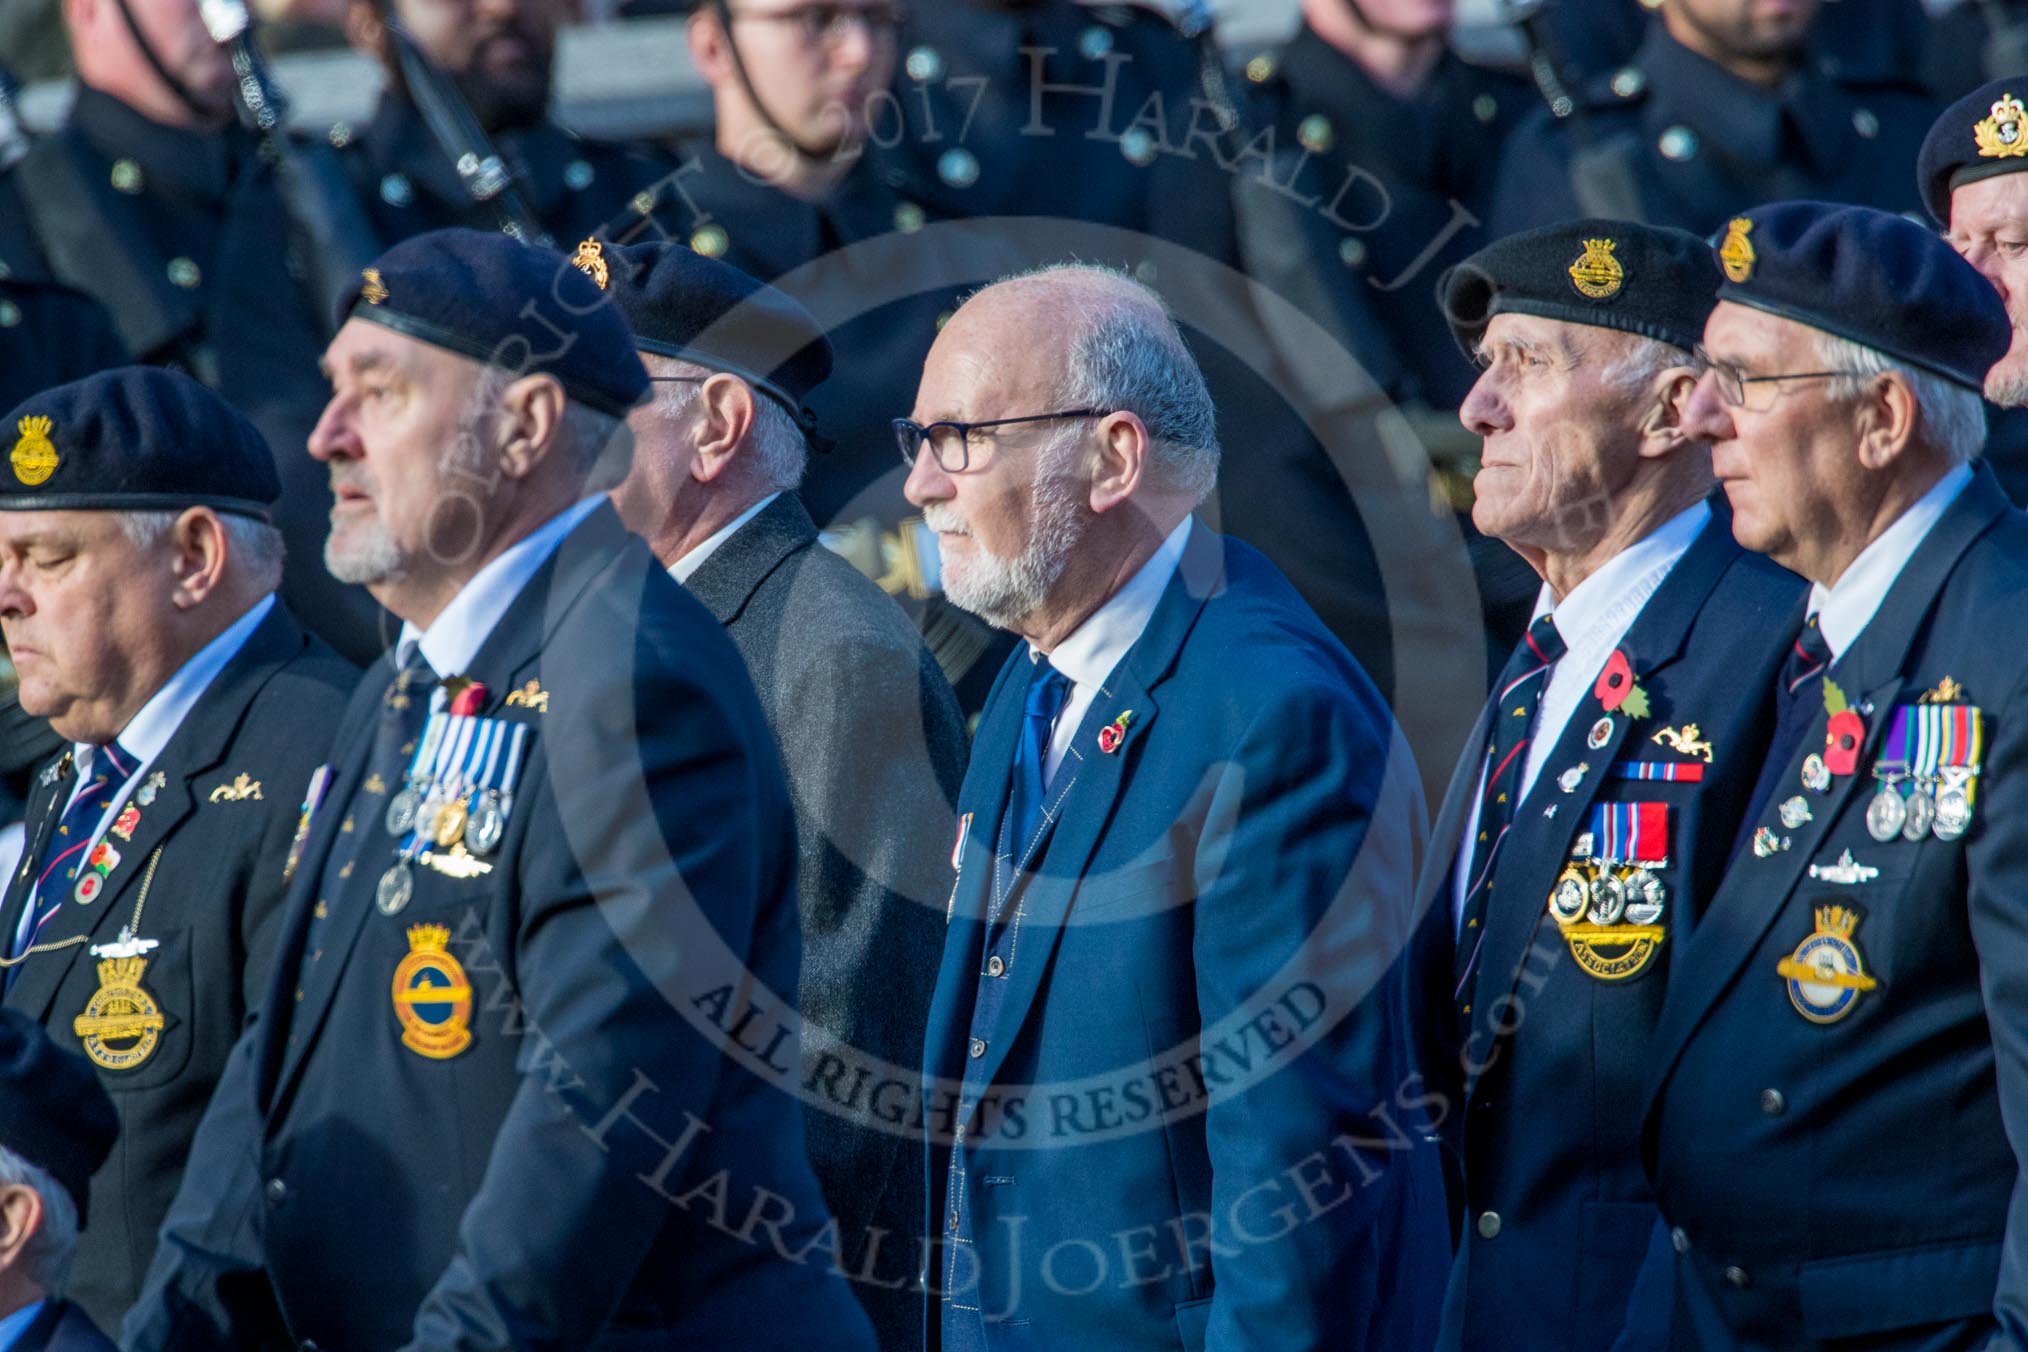
M99 1072L28 1016L0 1009L0 1145L63 1184L79 1222L91 1176L118 1137L120 1117Z

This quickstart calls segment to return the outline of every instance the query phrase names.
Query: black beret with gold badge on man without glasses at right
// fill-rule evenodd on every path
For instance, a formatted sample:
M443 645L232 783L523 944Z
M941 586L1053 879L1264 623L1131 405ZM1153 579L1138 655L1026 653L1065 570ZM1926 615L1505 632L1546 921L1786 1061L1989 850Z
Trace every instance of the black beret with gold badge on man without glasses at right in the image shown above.
M1450 332L1474 355L1495 314L1618 328L1691 349L1718 292L1712 249L1689 231L1570 221L1489 243L1444 278Z

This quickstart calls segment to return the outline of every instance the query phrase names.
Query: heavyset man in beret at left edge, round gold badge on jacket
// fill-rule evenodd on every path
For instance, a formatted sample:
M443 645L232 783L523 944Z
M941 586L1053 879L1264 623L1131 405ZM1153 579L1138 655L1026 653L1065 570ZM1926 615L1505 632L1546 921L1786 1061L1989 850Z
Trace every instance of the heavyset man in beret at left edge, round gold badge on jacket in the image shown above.
M4 426L0 632L22 707L73 746L28 797L0 979L120 1109L69 1285L116 1328L268 989L302 803L357 671L276 600L274 460L203 385L122 367Z

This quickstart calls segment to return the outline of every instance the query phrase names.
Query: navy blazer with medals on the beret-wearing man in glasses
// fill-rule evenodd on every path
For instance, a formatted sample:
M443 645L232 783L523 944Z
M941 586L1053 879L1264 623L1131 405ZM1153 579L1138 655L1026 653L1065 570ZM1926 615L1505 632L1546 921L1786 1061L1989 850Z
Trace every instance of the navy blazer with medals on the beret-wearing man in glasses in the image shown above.
M1740 851L1677 955L1641 1131L1677 1348L2028 1346L2024 596L2028 517L1979 466L1825 673L1856 772L1805 786L1819 709L1754 823L1779 847ZM1971 827L1880 843L1890 716L1947 677L1985 724Z

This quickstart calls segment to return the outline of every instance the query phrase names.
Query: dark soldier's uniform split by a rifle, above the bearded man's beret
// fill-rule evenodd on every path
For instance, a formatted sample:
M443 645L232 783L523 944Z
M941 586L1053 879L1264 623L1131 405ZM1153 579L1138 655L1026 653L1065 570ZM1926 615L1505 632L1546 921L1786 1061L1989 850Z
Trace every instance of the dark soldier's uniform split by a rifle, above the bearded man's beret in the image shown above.
M515 170L529 213L566 251L669 172L643 148L580 138L548 120L491 140ZM448 225L501 225L497 207L470 199L422 114L400 93L383 91L365 126L331 128L331 144L383 247Z

